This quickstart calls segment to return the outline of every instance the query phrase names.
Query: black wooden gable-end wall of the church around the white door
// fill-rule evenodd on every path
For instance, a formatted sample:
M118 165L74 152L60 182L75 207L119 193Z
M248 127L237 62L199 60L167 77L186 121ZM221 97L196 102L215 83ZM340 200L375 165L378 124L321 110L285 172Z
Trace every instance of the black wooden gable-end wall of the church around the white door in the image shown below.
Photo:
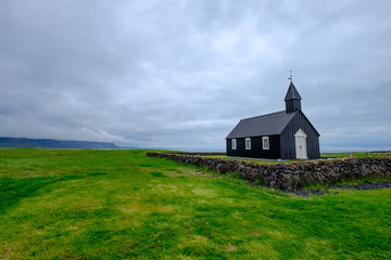
M319 135L301 110L292 118L280 135L281 159L297 158L294 134L299 129L302 129L307 135L306 146L308 159L319 159Z

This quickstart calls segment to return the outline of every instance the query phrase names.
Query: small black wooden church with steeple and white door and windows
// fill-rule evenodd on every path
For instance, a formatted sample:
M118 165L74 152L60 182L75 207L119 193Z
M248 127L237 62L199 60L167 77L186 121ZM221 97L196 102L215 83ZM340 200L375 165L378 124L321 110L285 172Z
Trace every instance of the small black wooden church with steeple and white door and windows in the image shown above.
M226 138L227 156L269 159L318 159L319 136L301 110L292 80L285 98L286 109L241 119Z

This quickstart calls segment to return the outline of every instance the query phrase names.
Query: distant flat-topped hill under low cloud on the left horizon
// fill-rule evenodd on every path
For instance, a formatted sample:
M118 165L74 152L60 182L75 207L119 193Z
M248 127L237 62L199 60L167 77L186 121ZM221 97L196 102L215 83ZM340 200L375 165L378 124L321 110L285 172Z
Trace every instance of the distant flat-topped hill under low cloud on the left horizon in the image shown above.
M52 139L0 138L0 147L26 148L119 148L113 143Z

